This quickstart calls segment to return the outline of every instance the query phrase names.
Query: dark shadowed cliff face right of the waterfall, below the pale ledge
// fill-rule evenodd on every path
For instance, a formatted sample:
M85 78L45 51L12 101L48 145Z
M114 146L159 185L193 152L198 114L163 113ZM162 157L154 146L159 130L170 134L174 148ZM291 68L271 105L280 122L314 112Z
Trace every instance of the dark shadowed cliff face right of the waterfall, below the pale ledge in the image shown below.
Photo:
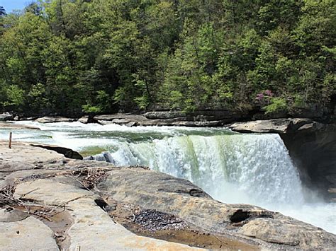
M293 134L282 134L303 182L317 187L325 199L336 202L336 127L324 125Z

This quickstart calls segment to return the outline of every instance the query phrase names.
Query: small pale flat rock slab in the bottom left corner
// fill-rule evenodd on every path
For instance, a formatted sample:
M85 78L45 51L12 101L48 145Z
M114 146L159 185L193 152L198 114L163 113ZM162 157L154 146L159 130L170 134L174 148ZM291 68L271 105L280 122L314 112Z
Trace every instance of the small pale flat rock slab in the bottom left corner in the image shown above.
M0 222L0 250L59 250L53 233L37 218Z

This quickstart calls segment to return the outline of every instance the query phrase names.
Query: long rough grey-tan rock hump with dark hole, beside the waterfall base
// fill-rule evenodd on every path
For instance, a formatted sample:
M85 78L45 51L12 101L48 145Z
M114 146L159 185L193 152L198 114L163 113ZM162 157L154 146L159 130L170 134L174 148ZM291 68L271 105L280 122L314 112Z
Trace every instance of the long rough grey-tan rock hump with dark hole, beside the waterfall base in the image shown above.
M264 247L276 248L270 243L288 248L295 243L303 249L336 245L336 236L320 228L258 206L217 202L191 182L152 170L112 170L98 189L117 201L173 214L209 232L254 241ZM194 189L201 191L200 196L193 196ZM267 228L261 224L264 222L269 223Z

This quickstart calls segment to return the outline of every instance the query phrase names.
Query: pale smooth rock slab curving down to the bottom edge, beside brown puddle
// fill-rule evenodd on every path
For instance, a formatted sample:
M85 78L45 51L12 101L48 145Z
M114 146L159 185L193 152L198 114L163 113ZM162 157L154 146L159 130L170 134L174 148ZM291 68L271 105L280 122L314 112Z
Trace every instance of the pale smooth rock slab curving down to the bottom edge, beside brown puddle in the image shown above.
M74 220L67 231L69 250L200 250L178 243L169 243L135 235L115 223L95 200L99 196L91 191L53 180L35 180L16 187L16 197L26 194L25 199L48 206L65 206ZM10 244L9 244L10 245Z

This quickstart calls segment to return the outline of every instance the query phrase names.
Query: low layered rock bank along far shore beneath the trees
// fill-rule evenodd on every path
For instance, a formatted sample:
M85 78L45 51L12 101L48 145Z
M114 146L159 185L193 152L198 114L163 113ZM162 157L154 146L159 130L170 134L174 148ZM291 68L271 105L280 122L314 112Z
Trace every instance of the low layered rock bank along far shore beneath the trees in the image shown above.
M289 117L301 117L313 119L323 123L336 122L336 108L323 110L318 107L311 109L298 109L286 113L274 113L265 115L260 110L239 112L233 110L199 110L194 112L156 111L146 113L116 113L110 115L85 115L83 117L62 117L60 115L16 115L9 112L0 114L1 120L36 120L41 123L74 122L100 123L100 124L125 124L128 126L186 126L186 127L220 127L233 122L246 122L258 119L279 119Z

